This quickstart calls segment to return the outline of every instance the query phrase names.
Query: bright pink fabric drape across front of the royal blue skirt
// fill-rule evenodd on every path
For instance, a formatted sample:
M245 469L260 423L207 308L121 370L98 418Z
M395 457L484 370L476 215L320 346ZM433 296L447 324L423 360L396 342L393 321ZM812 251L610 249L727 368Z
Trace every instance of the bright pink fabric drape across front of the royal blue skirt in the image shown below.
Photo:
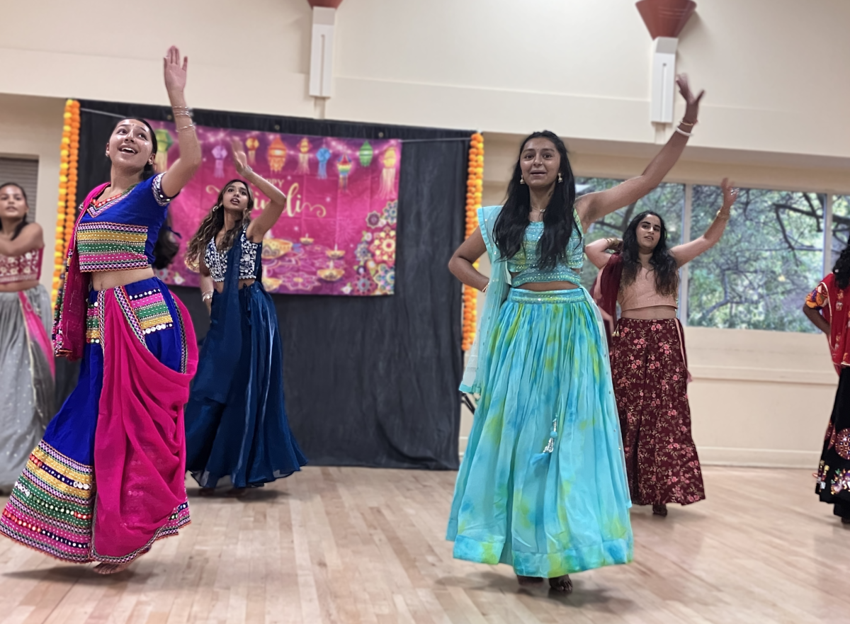
M189 312L173 299L184 331L184 372L157 360L144 335L133 331L123 287L102 296L104 384L94 435L92 542L92 558L99 561L132 561L189 522L183 407L198 348Z

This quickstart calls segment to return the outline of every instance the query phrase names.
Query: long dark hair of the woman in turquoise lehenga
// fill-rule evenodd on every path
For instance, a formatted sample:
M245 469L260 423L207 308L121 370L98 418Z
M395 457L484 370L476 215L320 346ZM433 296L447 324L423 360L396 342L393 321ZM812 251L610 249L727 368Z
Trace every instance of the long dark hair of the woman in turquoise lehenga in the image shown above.
M531 194L527 184L519 184L522 176L519 162L525 145L531 139L549 139L558 150L558 155L561 156L558 172L564 181L555 183L552 198L549 200L546 212L543 213L543 235L537 243L539 258L536 266L540 269L554 269L558 260L564 260L567 257L567 244L576 226L573 218L575 176L570 167L570 158L567 156L564 141L548 130L530 134L519 147L517 164L513 167L513 176L507 184L505 205L501 208L499 218L496 219L494 232L496 247L502 258L513 258L523 244L525 228L528 227L531 212Z

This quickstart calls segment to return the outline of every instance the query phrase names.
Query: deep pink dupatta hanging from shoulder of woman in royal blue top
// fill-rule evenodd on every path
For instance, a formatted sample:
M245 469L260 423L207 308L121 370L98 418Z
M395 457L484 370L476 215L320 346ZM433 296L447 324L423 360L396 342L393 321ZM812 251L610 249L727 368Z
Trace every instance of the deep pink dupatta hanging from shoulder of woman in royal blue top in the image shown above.
M71 232L68 244L68 255L65 257L65 283L59 290L56 300L56 316L54 319L54 353L64 355L69 360L82 358L82 350L86 346L86 308L88 306L88 282L91 277L80 270L80 258L76 253L77 226L82 215L88 210L88 205L109 186L104 182L95 186L86 196L77 215L77 223Z

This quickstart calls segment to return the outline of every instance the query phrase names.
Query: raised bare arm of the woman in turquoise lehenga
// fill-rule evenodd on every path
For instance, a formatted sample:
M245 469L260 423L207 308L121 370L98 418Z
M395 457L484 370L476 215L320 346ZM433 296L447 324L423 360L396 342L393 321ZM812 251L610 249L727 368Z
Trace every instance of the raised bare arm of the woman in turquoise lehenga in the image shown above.
M679 156L682 156L685 145L688 144L691 130L694 129L694 124L697 122L700 113L700 100L706 92L700 91L700 94L694 97L688 85L688 77L684 74L678 76L676 82L679 85L679 92L688 103L677 132L672 134L658 156L652 159L649 166L637 178L617 184L613 189L588 193L575 202L575 210L579 213L581 225L585 230L590 227L590 224L603 218L606 214L613 213L621 207L629 206L641 197L648 195L651 190L661 184L661 180L665 178L667 173L670 173Z

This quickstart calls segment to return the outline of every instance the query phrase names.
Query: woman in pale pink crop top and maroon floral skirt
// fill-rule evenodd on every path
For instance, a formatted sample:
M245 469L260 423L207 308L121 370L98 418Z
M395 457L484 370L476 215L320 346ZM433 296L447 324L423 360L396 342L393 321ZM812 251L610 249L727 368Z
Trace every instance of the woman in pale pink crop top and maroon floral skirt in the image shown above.
M706 497L700 459L691 438L688 360L676 318L678 269L717 244L738 196L723 180L723 207L700 238L667 248L664 220L638 214L623 240L585 247L599 269L594 293L600 308L621 319L611 336L611 374L623 431L632 502L666 516L668 502ZM608 251L614 249L614 254Z

